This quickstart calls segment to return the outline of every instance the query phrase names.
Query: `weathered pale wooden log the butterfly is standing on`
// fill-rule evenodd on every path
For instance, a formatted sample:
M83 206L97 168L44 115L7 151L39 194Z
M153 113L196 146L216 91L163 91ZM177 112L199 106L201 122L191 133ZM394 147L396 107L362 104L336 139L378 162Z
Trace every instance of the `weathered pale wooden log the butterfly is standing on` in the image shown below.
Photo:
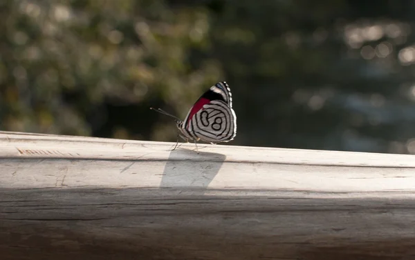
M0 259L415 259L415 157L0 132Z

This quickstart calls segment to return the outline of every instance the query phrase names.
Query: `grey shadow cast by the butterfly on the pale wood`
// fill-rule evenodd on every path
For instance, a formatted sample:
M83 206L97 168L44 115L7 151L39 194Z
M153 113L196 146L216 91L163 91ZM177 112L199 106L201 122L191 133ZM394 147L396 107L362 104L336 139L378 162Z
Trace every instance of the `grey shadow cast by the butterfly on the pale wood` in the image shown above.
M169 154L160 188L203 195L225 161L225 154L176 149Z

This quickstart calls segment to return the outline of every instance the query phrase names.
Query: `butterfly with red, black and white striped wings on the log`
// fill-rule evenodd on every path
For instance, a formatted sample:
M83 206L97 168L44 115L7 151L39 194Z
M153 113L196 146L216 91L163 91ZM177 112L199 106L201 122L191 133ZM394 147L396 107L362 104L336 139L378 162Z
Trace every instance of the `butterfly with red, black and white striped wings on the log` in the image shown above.
M232 141L237 135L237 115L232 109L232 93L225 81L210 87L190 108L183 121L160 108L150 109L176 119L178 136L187 142L194 141L196 150L199 140L215 144Z

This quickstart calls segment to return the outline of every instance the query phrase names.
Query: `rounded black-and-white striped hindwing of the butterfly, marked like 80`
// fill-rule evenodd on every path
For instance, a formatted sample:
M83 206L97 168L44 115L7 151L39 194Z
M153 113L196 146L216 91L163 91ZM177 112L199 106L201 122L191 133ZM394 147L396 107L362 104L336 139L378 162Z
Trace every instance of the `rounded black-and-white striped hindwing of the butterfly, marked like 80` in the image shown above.
M202 141L227 142L237 134L237 116L234 110L221 100L210 101L194 114L188 122L188 130Z

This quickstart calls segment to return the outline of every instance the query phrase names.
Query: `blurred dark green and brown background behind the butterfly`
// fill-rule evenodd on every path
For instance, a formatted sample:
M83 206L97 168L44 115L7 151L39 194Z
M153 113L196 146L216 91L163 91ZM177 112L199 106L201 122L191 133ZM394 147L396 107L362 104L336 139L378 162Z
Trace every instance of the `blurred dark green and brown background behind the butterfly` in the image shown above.
M0 130L176 141L216 81L229 145L415 154L415 1L0 2Z

